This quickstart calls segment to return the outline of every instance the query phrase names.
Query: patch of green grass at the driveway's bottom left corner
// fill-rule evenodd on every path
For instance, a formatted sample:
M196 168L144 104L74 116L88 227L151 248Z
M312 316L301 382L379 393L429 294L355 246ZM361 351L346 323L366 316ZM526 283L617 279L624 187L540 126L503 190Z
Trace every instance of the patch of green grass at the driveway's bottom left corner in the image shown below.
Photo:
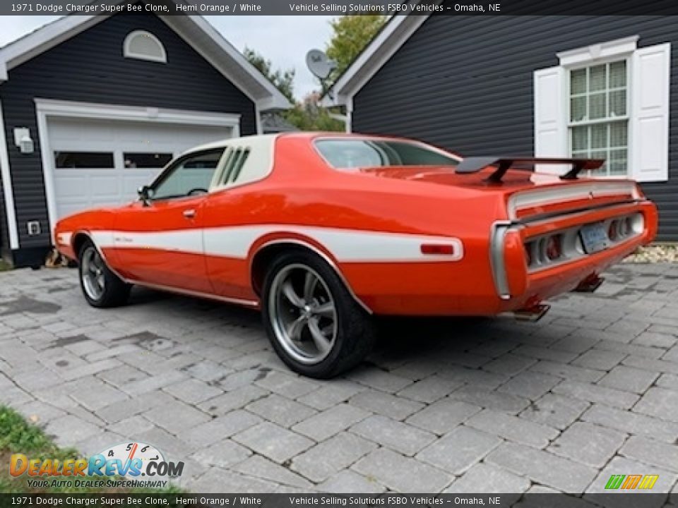
M0 492L7 494L61 494L61 493L97 493L97 494L136 494L141 492L153 492L158 494L177 494L182 492L174 485L165 489L114 489L114 488L75 488L75 487L51 487L31 488L28 486L28 475L24 474L14 478L9 474L9 459L11 454L21 453L28 456L29 459L59 459L62 463L65 459L82 458L74 449L62 449L57 447L49 438L44 435L40 428L31 425L23 419L16 411L6 406L0 406ZM61 476L34 476L32 479L48 480L51 483L53 478L73 478ZM102 476L87 477L79 476L79 480L101 480Z

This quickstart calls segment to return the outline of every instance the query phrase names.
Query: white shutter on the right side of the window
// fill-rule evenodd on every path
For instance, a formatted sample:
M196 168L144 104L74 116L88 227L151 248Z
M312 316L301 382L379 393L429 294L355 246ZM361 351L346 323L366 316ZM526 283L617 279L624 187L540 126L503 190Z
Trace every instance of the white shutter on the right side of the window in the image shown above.
M630 174L638 181L667 181L671 44L634 52L631 66Z

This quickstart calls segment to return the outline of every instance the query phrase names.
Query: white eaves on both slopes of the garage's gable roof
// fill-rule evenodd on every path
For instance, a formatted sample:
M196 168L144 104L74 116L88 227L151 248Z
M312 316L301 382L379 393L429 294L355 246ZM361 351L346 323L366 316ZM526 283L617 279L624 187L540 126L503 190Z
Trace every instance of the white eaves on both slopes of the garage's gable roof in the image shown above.
M122 3L122 2L120 2ZM183 4L182 0L167 3ZM14 42L0 48L0 83L8 80L8 71L25 61L92 28L111 15L69 14L44 25ZM148 16L153 16L149 14ZM260 111L287 109L290 101L258 71L205 18L197 15L160 16L169 28L201 54L217 71L249 97Z

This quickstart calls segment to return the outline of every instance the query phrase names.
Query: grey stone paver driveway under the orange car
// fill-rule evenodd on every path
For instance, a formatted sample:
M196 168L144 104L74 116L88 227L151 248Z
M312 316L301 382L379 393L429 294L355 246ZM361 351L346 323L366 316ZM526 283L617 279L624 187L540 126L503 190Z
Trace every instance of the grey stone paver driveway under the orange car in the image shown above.
M285 368L249 310L138 288L97 310L76 277L0 274L0 404L82 453L152 443L194 492L678 492L677 265L614 267L537 323L398 327L334 380Z

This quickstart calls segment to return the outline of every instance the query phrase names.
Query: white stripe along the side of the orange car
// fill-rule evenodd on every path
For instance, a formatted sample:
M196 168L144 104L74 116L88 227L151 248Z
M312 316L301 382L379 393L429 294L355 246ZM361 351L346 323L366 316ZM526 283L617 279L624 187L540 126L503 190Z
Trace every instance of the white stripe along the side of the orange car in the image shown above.
M205 253L246 259L251 246L271 233L292 233L312 238L339 262L436 262L463 258L463 244L451 236L381 233L357 229L312 226L229 226L179 231L94 231L100 248L151 248L185 253ZM278 238L277 238L278 239ZM204 246L203 246L204 243ZM452 254L422 254L422 243L452 246Z

